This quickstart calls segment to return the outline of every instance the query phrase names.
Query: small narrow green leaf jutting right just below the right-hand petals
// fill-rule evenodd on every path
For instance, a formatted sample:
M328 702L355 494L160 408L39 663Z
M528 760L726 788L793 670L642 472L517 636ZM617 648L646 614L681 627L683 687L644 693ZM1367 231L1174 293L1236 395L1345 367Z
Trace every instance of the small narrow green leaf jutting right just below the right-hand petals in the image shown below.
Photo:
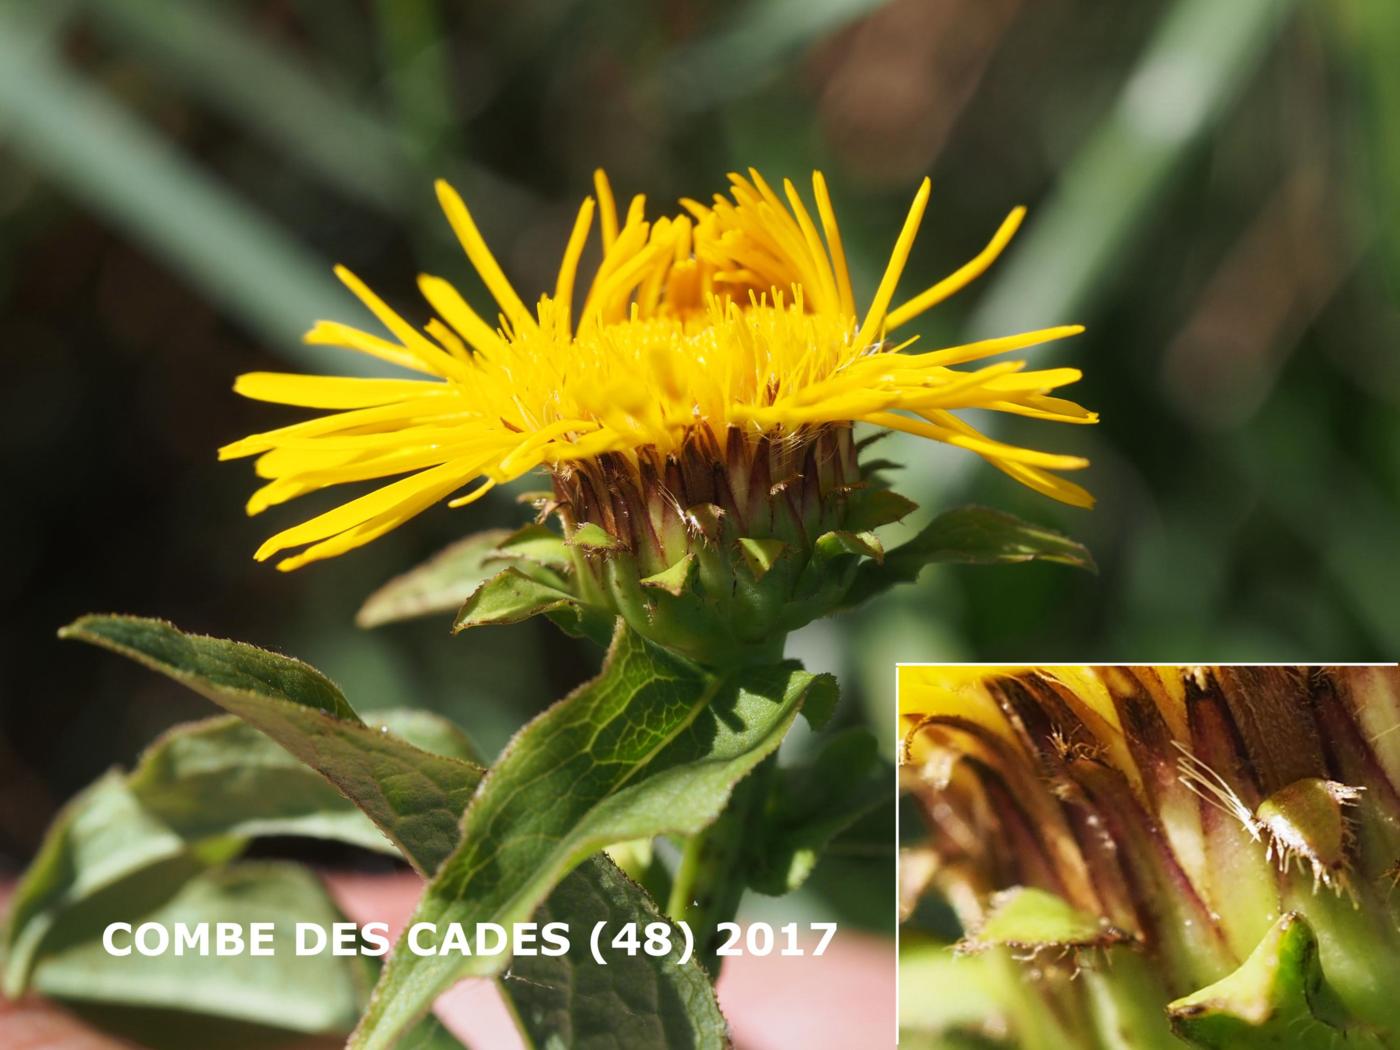
M846 605L858 605L896 584L913 582L924 566L948 561L976 566L1057 561L1098 571L1088 549L1068 536L988 507L958 507L886 552L883 563L862 564Z

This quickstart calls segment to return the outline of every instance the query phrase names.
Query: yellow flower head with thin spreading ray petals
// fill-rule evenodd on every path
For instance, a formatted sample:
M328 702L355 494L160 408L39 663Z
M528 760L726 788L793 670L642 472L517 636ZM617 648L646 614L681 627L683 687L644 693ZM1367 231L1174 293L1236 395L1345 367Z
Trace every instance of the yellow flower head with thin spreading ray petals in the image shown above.
M392 339L322 321L307 340L358 350L424 378L241 375L235 389L244 396L328 414L235 441L220 456L258 456L267 483L249 514L332 484L398 480L277 533L258 559L304 547L279 564L287 570L332 557L463 487L470 486L449 505L540 466L560 477L612 458L665 463L696 441L722 448L731 435L791 452L855 421L959 445L1037 491L1091 505L1084 489L1053 473L1086 461L994 441L953 414L993 409L1095 421L1093 413L1051 396L1079 378L1074 368L1023 371L1022 361L955 368L1081 328L917 354L900 353L913 339L889 339L980 276L1011 239L1022 209L974 259L890 309L928 202L925 179L860 312L820 174L812 176L815 220L791 182L780 197L757 172L729 178L729 196L717 195L708 206L683 200L679 214L647 221L640 196L619 217L599 172L596 199L578 210L553 294L540 295L533 309L507 280L466 204L438 182L442 210L496 298L496 323L448 281L424 274L419 287L435 315L414 328L337 267ZM575 319L575 283L595 213L602 256L578 290Z

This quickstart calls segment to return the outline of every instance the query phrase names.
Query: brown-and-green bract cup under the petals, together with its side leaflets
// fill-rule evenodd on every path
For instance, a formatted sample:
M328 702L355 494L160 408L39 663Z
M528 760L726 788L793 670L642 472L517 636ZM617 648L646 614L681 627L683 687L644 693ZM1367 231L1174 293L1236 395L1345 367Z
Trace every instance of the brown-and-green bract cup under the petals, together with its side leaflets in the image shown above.
M878 468L862 473L848 427L805 444L734 430L708 442L661 462L603 456L560 472L540 510L561 535L536 524L504 540L463 540L377 594L361 622L461 601L458 630L546 615L601 640L620 617L671 652L722 669L780 659L790 631L914 580L927 564L1093 568L1081 545L979 507L941 515L886 554L876 529L914 504L883 487Z

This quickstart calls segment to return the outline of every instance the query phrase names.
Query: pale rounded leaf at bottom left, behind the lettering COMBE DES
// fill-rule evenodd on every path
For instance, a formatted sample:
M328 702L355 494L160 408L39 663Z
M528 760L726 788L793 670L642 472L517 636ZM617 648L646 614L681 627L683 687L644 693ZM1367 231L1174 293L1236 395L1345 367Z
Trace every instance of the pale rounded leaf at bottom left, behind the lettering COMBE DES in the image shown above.
M347 921L321 881L294 864L238 864L206 871L185 882L133 876L101 900L76 909L35 970L34 987L66 1000L160 1007L235 1018L294 1032L349 1032L360 1014L371 970L364 958L295 953L298 923L322 928ZM154 895L164 899L151 900ZM94 904L97 904L94 907ZM120 920L133 927L175 924L273 923L272 956L206 955L111 956L102 930ZM329 935L329 930L326 930ZM129 944L126 937L118 945ZM213 944L213 942L211 942Z

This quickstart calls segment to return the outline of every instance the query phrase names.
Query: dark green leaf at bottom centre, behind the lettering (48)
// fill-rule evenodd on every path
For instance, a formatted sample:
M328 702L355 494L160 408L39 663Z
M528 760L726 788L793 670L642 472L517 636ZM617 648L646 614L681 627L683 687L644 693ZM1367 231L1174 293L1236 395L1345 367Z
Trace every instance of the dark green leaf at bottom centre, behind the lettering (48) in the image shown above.
M521 1022L538 1050L651 1050L662 1046L728 1046L724 1015L710 980L682 965L682 935L631 879L612 864L578 868L559 883L535 921L567 920L570 951L557 958L519 956L505 974ZM606 923L664 923L671 949L650 958L609 953L599 966L585 931Z

